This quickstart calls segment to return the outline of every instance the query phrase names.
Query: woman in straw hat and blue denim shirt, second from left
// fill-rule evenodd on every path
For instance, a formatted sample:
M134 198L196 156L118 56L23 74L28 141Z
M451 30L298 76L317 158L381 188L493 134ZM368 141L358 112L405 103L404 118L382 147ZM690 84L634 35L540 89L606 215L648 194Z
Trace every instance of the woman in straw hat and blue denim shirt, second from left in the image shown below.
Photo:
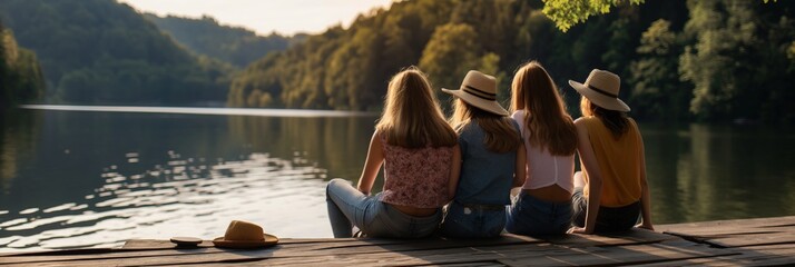
M494 77L470 70L455 96L450 118L459 134L461 177L440 231L452 238L498 237L506 226L506 205L518 177L524 177L524 146L519 126L497 102ZM514 175L516 174L516 175Z

